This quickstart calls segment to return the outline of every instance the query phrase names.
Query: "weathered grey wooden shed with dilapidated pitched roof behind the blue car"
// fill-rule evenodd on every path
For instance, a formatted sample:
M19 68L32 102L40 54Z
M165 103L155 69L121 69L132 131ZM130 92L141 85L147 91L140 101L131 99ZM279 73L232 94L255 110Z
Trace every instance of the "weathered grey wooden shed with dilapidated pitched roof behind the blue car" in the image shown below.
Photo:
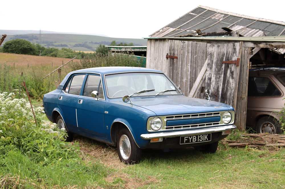
M250 27L257 22L263 25ZM245 129L251 62L284 66L284 32L284 22L197 7L146 38L146 67L165 72L186 96L206 98L209 89L212 100L235 108L235 124Z

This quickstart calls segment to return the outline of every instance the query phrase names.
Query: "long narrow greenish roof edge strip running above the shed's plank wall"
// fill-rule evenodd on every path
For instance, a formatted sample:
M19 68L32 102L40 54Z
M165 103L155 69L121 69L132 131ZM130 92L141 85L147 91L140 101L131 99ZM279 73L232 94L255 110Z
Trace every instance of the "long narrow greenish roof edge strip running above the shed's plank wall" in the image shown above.
M144 39L176 39L176 40L209 40L209 41L260 41L260 42L282 42L285 36L262 36L262 37L146 37Z

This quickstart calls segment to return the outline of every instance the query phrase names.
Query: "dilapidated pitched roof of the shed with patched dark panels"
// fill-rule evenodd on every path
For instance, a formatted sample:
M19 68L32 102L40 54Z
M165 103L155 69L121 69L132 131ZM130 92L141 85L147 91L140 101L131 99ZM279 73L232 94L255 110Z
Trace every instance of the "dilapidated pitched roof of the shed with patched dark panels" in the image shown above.
M198 35L197 30L204 33L235 31L245 37L280 36L285 35L285 22L198 6L150 37L195 36Z

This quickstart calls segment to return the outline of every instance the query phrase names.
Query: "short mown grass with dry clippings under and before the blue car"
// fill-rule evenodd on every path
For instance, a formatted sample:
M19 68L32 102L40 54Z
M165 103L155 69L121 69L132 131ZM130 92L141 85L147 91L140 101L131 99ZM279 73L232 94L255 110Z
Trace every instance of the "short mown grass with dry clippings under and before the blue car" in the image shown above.
M107 180L121 188L285 188L285 149L239 149L220 142L215 154L194 149L144 151L136 165L124 165L115 148L77 137L83 158L114 169Z

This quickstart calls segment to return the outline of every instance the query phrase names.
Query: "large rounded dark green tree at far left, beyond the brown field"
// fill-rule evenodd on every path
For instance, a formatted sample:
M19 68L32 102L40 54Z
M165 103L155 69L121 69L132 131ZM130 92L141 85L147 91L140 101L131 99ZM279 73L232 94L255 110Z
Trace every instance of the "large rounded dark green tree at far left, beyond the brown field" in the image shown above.
M36 54L35 46L25 39L13 39L3 45L4 53Z

